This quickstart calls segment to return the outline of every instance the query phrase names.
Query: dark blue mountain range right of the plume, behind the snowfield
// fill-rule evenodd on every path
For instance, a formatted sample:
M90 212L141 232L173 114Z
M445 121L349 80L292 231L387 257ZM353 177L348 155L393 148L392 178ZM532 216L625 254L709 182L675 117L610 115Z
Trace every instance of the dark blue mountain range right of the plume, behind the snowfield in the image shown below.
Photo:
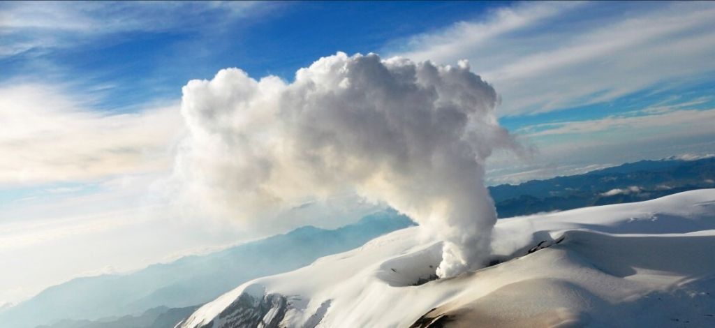
M715 187L715 158L636 161L586 174L489 187L499 217L640 202Z

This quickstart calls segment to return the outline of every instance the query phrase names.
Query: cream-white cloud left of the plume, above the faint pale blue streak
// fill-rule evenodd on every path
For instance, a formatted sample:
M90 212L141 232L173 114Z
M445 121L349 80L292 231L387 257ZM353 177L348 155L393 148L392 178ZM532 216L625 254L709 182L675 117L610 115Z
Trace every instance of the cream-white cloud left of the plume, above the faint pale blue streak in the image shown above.
M89 109L41 85L0 87L0 185L82 182L170 169L178 106L133 113Z

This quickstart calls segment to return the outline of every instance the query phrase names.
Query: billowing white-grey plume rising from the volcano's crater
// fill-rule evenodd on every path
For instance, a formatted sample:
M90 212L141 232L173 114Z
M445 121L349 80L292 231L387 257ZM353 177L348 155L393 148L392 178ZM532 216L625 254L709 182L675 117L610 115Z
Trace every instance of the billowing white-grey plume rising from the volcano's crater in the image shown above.
M483 185L498 125L494 89L458 66L338 53L287 84L240 69L184 86L189 129L177 202L247 227L285 209L357 193L408 214L445 242L438 274L483 264L496 219Z

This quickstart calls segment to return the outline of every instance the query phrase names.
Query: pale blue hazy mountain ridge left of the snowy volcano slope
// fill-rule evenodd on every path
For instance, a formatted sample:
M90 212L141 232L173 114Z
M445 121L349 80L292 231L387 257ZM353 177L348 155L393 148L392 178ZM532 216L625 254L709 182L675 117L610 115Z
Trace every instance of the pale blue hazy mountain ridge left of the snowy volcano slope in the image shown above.
M154 312L162 314L167 310L162 312L160 307L203 304L247 280L305 267L325 255L354 249L370 239L411 225L414 223L408 217L388 210L339 229L301 227L220 252L154 264L132 274L77 278L6 309L0 313L0 327L31 328L56 323L59 325L53 328L79 328L84 327L82 324L94 324L81 320L128 314L149 320L152 312L148 316L143 313L148 309L156 308ZM61 319L72 320L58 322ZM107 320L100 327L109 327ZM123 322L123 327L144 327ZM117 327L122 327L121 322Z

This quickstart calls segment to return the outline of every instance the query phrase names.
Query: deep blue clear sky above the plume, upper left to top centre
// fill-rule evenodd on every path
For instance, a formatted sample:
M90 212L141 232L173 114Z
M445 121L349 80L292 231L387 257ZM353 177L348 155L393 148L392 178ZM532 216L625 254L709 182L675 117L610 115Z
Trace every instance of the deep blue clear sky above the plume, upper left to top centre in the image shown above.
M190 79L210 79L227 67L290 80L297 69L321 56L377 52L393 40L473 19L498 4L316 1L246 4L233 9L237 12L220 4L94 4L91 9L84 4L52 4L54 10L71 11L66 16L87 15L93 21L65 31L40 24L10 29L10 39L18 44L36 34L50 41L4 56L0 69L7 72L4 81L49 77L77 93L98 93L103 108L130 110L146 101L177 99ZM4 6L12 13L26 5ZM146 6L153 7L153 14L168 11L169 16L153 26L154 18L141 13ZM401 18L395 19L395 14ZM104 32L105 19L139 23ZM98 92L98 85L107 89Z

